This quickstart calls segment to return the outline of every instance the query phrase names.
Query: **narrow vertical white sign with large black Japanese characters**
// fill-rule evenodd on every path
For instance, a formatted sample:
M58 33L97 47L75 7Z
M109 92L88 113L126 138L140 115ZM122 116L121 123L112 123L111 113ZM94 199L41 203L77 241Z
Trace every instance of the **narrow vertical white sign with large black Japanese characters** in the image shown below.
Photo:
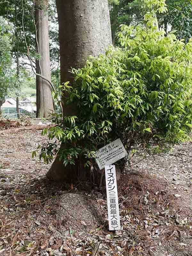
M120 230L119 203L115 165L105 166L109 230Z

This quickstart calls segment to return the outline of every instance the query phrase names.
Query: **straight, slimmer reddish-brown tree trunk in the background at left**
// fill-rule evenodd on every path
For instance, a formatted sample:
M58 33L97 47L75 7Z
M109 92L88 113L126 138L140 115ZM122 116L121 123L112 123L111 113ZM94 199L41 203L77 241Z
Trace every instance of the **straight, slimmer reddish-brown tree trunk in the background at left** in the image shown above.
M36 0L36 52L40 60L36 60L36 73L51 81L49 53L49 25L47 0ZM54 111L50 84L36 76L37 118L48 117Z

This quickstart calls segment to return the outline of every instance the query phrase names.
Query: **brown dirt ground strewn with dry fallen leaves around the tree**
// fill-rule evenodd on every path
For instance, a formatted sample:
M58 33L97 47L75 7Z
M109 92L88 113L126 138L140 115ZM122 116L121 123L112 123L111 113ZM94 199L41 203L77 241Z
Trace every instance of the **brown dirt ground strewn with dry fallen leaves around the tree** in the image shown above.
M121 230L109 232L105 189L55 184L32 150L36 127L0 131L0 256L192 256L192 143L132 161L118 188Z

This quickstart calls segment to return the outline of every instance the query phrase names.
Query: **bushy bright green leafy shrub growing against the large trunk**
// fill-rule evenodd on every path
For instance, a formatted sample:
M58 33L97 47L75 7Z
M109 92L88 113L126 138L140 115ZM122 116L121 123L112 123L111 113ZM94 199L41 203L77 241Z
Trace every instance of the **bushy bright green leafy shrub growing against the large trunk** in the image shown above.
M76 116L54 115L56 126L43 134L67 144L59 151L65 165L74 164L79 154L92 164L95 151L117 138L128 155L154 154L189 139L192 40L184 44L174 33L165 37L153 26L153 13L145 20L145 28L123 25L121 48L90 57L83 68L71 70L72 86L62 85ZM49 162L56 152L49 142L40 157Z

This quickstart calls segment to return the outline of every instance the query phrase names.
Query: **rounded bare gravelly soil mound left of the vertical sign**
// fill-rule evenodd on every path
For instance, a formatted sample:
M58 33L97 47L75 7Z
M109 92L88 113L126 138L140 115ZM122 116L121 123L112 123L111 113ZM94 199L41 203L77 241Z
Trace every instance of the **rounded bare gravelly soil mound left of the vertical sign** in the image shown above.
M37 218L36 215L31 217ZM73 233L86 235L91 229L101 226L103 221L104 212L95 200L74 193L53 198L37 219L41 227L49 227L55 238Z

